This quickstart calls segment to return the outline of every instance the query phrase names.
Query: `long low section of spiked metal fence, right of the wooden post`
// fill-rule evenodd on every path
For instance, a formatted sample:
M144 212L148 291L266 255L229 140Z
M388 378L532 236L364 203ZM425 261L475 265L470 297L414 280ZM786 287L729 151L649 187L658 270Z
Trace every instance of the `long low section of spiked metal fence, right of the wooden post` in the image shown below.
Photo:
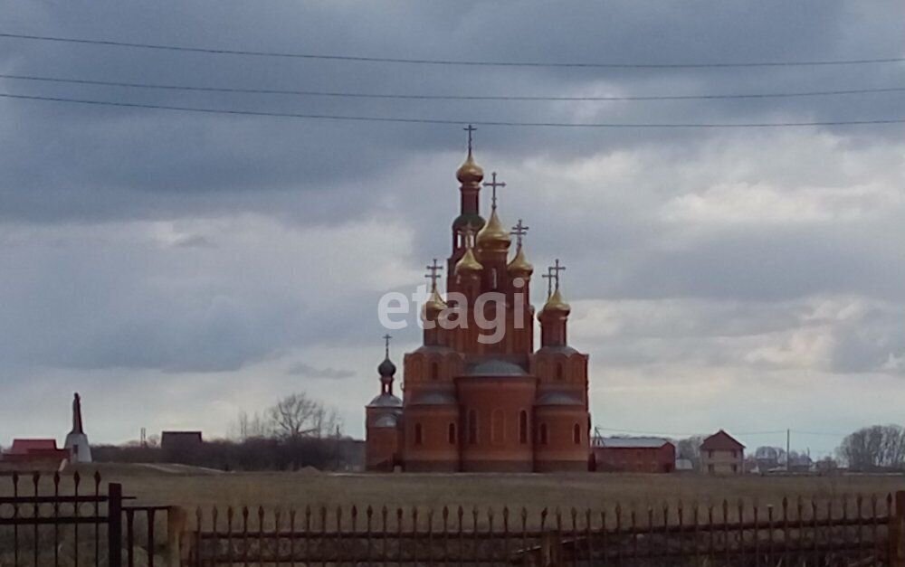
M905 493L898 493L901 508ZM197 510L190 561L304 565L899 565L893 495L567 512ZM899 527L896 527L899 526Z

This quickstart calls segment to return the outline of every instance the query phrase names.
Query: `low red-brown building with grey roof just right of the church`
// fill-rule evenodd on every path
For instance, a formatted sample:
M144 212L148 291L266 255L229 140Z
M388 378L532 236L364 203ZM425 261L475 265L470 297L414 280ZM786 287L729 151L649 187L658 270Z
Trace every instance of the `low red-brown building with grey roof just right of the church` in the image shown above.
M611 437L594 439L595 470L601 472L671 473L676 448L668 439Z

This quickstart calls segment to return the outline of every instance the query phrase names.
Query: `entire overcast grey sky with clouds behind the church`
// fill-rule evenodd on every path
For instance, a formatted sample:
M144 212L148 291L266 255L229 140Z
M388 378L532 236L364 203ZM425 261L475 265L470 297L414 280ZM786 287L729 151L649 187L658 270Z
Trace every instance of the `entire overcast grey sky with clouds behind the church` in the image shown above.
M0 33L474 61L709 63L905 56L899 0L4 2ZM373 93L648 96L905 87L905 65L425 66L0 38L0 72ZM905 118L901 92L785 99L337 99L0 79L0 92L457 121ZM594 423L822 455L902 422L905 126L481 127L529 259L567 264ZM449 254L460 126L189 114L0 99L0 444L223 435L309 392L363 434L377 300ZM485 195L484 207L487 206ZM543 286L536 285L540 291ZM536 304L543 300L539 294ZM416 345L394 332L393 353ZM814 435L822 433L822 435Z

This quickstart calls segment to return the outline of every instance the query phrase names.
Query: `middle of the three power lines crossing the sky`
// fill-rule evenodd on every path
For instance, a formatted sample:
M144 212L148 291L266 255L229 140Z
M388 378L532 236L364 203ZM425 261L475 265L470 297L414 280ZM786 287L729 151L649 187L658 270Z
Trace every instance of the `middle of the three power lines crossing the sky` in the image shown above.
M239 89L233 87L201 87L194 85L175 85L161 83L125 82L115 80L63 79L60 77L42 77L37 75L13 75L0 73L0 79L33 80L77 85L98 85L105 87L125 87L129 89L157 90L190 90L201 92L235 92L244 94L279 94L306 97L335 97L348 99L420 99L420 100L538 100L538 101L638 101L638 100L707 100L707 99L778 99L798 97L827 97L840 95L857 95L868 93L903 92L905 87L889 87L880 89L850 90L812 90L805 92L768 92L741 94L703 94L703 95L649 95L649 96L612 96L612 97L555 97L555 96L519 96L519 95L438 95L438 94L394 94L371 92L345 92L335 90L280 90L280 89Z

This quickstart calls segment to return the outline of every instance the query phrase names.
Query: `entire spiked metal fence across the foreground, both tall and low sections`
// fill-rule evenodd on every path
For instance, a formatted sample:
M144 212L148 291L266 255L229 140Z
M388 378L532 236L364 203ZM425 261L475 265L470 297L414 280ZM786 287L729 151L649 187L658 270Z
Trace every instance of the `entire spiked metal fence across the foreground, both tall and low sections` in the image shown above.
M99 474L0 483L0 566L905 567L905 491L775 506L128 506Z

